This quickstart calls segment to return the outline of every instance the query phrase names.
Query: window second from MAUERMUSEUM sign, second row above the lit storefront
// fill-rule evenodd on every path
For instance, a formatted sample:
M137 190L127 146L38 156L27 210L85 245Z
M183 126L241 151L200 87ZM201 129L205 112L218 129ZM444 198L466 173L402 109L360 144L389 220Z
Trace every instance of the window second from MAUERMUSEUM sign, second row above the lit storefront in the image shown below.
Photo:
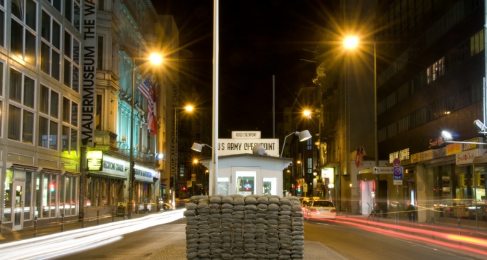
M61 25L43 10L40 36L40 70L60 81Z

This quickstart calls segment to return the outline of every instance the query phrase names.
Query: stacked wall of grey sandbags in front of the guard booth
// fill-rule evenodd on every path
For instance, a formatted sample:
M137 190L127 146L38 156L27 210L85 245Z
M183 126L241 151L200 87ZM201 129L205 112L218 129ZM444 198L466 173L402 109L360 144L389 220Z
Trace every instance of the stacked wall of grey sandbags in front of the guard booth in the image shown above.
M303 258L298 197L193 196L186 209L187 259Z

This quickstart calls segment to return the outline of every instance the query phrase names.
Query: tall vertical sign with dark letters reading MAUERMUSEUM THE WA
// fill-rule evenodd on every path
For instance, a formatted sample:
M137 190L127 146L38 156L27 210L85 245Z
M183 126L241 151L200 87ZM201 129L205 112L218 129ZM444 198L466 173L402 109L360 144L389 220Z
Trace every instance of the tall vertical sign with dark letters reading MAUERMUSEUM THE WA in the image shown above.
M93 147L95 138L95 81L96 81L96 1L84 0L83 5L83 51L82 51L82 144Z

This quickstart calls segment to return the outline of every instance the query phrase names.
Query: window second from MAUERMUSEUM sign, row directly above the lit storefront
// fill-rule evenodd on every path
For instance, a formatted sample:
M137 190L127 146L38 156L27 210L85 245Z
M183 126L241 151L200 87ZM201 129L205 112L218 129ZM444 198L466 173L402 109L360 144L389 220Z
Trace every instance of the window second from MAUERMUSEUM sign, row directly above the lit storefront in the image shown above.
M58 150L59 93L40 85L37 145Z

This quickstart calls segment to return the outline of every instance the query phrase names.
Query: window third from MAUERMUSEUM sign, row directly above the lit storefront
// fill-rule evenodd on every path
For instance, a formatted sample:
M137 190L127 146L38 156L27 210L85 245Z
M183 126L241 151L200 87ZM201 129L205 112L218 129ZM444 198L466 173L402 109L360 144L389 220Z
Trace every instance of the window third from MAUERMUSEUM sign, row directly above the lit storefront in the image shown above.
M35 81L10 69L8 138L32 144L34 140Z

